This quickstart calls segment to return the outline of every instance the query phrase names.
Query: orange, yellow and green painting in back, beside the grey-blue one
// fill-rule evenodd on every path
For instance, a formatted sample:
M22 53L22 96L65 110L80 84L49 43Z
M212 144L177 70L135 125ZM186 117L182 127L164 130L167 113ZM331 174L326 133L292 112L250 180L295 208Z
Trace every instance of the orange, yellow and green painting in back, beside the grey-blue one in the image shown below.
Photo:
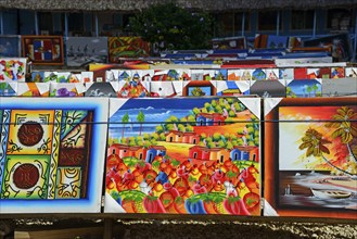
M141 37L109 37L110 62L118 63L119 58L146 58L149 42Z

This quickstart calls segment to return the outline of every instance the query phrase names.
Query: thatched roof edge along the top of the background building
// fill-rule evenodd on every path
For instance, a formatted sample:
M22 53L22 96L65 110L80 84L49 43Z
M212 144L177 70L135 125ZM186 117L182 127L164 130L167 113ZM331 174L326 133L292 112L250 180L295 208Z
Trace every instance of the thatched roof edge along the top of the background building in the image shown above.
M0 9L38 11L138 11L173 0L1 0ZM262 9L356 8L357 0L176 0L177 4L208 11Z

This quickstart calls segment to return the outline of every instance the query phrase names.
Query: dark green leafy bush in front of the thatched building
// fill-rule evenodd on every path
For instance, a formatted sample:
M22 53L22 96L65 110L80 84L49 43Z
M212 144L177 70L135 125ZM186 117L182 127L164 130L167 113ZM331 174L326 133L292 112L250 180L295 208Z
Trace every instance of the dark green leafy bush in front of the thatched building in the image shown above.
M174 2L152 5L129 20L128 30L160 50L207 49L213 35L213 16L193 12Z

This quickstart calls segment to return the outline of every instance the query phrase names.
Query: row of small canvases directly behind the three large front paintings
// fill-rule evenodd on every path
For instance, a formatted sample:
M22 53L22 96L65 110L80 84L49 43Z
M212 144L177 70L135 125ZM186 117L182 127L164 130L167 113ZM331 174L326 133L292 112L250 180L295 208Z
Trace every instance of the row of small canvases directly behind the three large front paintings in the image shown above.
M0 83L3 97L174 98L253 96L316 98L357 93L357 78L291 80L189 80L107 83Z

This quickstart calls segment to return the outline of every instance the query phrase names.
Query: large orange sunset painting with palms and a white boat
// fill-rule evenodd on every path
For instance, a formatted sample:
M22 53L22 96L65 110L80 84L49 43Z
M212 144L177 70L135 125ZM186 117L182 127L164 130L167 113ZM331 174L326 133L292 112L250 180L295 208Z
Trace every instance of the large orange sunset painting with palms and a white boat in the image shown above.
M357 219L356 101L265 100L265 215Z

